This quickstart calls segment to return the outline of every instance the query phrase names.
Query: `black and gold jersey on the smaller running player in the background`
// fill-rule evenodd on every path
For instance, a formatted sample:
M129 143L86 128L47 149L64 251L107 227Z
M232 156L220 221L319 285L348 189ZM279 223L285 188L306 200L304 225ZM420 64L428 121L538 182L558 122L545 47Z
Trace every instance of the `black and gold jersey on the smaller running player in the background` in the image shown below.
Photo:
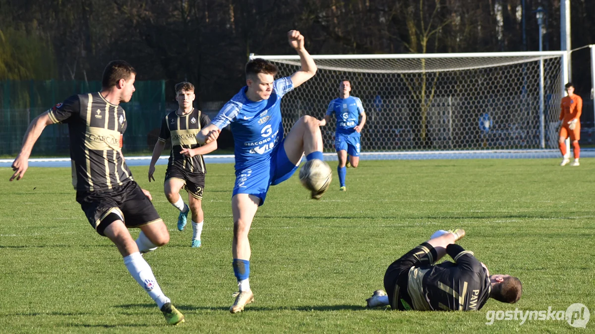
M186 115L178 115L177 111L165 115L161 121L158 140L165 142L171 138L168 165L176 165L192 173L206 173L205 160L202 155L186 157L180 151L201 146L196 142L196 134L210 122L209 116L194 108Z

